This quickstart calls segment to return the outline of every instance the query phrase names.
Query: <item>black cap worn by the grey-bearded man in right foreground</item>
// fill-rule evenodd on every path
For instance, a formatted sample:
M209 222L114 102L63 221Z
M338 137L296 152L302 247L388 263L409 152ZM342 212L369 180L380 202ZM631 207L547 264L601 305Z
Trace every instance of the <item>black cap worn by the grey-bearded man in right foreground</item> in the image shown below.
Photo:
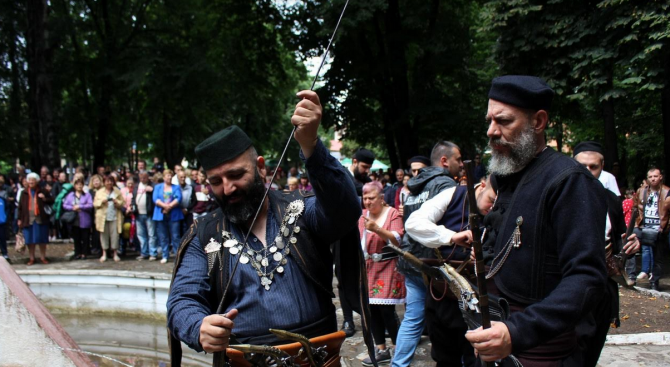
M542 79L529 75L505 75L493 79L489 99L530 109L551 108L554 90Z

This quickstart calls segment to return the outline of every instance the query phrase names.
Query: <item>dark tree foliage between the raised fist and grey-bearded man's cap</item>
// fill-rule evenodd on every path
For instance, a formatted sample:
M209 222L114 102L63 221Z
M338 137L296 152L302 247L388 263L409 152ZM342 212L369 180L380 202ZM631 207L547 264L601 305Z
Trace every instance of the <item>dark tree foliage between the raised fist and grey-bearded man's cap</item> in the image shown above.
M312 0L292 9L294 42L306 57L323 50L343 5ZM319 89L328 106L324 123L361 145L383 146L394 168L429 154L438 139L470 150L482 145L486 102L478 70L486 60L473 45L477 11L469 1L350 3Z

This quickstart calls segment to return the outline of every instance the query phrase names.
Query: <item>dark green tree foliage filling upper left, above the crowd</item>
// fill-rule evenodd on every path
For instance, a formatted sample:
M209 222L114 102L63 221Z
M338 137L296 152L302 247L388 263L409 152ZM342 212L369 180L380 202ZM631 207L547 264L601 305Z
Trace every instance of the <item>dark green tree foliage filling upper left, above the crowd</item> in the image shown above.
M20 67L27 28L16 20L26 10L3 4L0 116L13 130L27 119L28 77ZM272 1L53 0L46 24L54 120L69 159L130 161L136 144L145 158L173 165L231 124L274 155L289 135L306 70ZM25 157L22 149L34 155L37 142L25 149L32 135L21 133L23 140L4 145L8 158Z

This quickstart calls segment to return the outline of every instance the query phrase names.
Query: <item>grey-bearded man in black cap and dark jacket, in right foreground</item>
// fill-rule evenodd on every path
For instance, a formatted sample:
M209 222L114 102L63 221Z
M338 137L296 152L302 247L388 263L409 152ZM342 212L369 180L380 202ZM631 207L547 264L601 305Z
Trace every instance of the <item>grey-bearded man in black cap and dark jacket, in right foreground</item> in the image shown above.
M487 287L511 313L466 338L484 361L581 366L575 326L602 299L607 203L602 185L546 146L554 91L534 76L495 78L486 121L498 197L484 218Z

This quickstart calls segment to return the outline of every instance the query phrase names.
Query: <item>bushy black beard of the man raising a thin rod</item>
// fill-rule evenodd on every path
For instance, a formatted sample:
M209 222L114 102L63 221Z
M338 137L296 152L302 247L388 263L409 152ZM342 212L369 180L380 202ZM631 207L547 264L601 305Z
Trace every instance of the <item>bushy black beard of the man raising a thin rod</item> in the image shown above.
M254 181L248 188L238 188L233 195L223 195L221 198L214 195L214 197L216 202L219 203L225 218L235 224L244 224L256 214L263 201L263 195L265 195L265 185L258 171L256 171ZM234 204L230 203L230 199L240 196L242 200Z

